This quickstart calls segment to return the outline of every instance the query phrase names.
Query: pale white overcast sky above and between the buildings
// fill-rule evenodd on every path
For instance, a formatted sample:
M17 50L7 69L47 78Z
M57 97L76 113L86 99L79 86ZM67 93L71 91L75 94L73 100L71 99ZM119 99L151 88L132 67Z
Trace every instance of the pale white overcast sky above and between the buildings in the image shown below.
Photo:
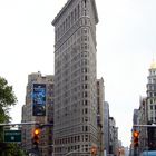
M28 75L53 75L51 21L67 0L0 1L0 76L18 98L12 123L21 121ZM124 146L130 144L133 111L146 96L148 69L156 60L156 0L96 0L97 78Z

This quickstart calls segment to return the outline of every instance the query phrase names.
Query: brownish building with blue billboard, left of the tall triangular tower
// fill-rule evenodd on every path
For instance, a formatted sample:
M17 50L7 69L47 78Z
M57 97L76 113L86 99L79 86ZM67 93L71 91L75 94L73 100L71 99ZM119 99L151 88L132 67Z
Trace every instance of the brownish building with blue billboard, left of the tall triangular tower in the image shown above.
M37 87L38 88L35 88ZM35 105L35 89L46 90L46 104L45 109L35 110L37 108ZM43 113L43 114L42 114ZM38 114L38 115L35 115ZM40 115L39 115L40 114ZM42 114L42 115L41 115ZM52 155L52 124L53 124L53 76L42 76L40 72L35 72L28 76L27 94L26 94L26 104L22 107L22 123L39 123L39 124L49 124L51 126L45 126L40 129L39 138L39 153L42 156ZM32 133L37 125L23 125L22 126L22 147L31 153L35 148L32 144Z

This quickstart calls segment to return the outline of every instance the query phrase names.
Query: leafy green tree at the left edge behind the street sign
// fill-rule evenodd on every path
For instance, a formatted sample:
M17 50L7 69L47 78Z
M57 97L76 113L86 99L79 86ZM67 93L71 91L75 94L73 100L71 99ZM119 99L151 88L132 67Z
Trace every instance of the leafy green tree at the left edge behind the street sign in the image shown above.
M16 105L17 97L14 96L12 86L8 85L8 81L0 77L0 123L9 123L11 117L9 109ZM0 155L7 156L23 156L22 149L18 144L3 143L3 127L0 126Z

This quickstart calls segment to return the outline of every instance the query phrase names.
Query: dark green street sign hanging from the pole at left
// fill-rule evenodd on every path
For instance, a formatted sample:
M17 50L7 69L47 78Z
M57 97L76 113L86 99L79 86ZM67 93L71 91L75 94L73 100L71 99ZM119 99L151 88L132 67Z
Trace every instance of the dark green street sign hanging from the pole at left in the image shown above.
M6 143L21 142L21 130L4 130L3 138Z

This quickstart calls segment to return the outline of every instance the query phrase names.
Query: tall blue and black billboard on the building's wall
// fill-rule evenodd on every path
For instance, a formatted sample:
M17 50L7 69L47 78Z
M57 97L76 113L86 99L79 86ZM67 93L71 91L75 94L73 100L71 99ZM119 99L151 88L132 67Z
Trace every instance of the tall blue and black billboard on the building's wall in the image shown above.
M46 116L46 84L33 84L32 115Z

